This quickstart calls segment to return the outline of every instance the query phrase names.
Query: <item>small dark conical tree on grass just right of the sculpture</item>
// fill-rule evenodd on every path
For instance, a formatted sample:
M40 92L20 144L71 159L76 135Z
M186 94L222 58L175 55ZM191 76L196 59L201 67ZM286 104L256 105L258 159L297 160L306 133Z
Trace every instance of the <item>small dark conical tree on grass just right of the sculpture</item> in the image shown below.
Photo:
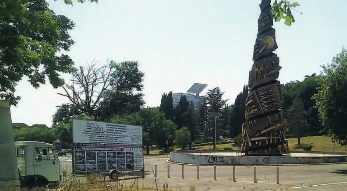
M288 128L292 133L295 133L298 138L298 145L301 145L300 137L307 128L306 118L307 112L303 107L303 102L300 98L295 98L293 104L287 111Z

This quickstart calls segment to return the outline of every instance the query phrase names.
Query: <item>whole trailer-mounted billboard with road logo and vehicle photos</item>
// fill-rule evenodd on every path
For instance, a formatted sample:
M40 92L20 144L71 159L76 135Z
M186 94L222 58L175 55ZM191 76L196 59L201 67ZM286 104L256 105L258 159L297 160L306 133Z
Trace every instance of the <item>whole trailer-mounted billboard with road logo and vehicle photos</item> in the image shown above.
M73 119L72 135L74 172L143 168L141 126Z

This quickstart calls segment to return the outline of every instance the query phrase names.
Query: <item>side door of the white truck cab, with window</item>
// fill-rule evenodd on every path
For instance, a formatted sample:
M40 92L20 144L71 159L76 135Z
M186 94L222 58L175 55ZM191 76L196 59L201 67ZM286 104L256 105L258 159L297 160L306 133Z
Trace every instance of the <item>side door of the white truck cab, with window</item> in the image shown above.
M59 161L52 147L34 148L34 173L44 176L49 182L59 181Z

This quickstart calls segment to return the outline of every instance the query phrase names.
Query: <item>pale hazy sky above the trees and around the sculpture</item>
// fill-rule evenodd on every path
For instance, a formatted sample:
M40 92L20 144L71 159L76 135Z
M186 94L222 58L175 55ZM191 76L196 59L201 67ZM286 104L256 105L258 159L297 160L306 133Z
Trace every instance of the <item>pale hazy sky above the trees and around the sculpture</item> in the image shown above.
M68 52L76 66L107 59L141 63L146 106L159 106L164 92L186 92L193 83L208 84L201 95L220 87L232 104L248 83L260 0L48 2L76 24ZM281 83L319 74L320 65L347 45L346 0L295 2L300 4L292 11L296 22L274 24ZM69 83L70 76L63 77ZM35 89L23 78L16 90L22 100L11 107L12 122L51 127L56 106L68 103L57 94L63 90L49 83Z

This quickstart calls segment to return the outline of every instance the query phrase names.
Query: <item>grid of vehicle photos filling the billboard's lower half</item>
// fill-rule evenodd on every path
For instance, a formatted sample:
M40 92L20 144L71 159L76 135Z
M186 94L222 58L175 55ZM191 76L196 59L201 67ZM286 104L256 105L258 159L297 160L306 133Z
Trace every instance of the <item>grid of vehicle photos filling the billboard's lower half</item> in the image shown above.
M75 151L75 171L141 170L143 153L139 148L122 151Z

